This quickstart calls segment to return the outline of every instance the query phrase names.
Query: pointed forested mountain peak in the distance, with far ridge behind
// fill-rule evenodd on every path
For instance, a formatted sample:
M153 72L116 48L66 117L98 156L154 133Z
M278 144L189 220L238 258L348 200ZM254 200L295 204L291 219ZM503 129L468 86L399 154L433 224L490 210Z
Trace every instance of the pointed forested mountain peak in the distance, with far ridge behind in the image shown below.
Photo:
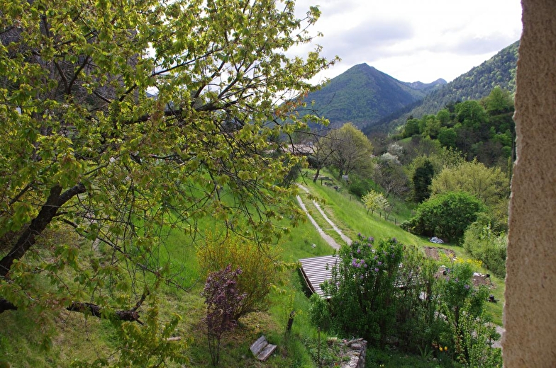
M305 100L314 101L311 108L330 120L329 127L352 122L361 128L422 100L445 83L443 79L430 84L405 83L367 64L358 64L309 93Z

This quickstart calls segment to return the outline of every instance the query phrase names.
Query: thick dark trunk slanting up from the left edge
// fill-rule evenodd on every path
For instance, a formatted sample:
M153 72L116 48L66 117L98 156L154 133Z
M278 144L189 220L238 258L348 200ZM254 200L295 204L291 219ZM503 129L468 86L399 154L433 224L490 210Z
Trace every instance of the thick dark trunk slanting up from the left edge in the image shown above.
M56 216L56 213L62 205L68 200L72 199L75 195L85 192L85 187L82 183L74 185L72 188L66 190L62 193L62 187L60 185L54 185L50 189L50 195L38 212L37 217L35 217L23 231L23 234L19 236L16 244L11 248L11 251L0 260L0 276L6 277L13 264L14 260L19 260L25 253L35 244L37 241L37 236L40 235L46 226L50 224L52 219ZM62 193L62 194L60 194Z

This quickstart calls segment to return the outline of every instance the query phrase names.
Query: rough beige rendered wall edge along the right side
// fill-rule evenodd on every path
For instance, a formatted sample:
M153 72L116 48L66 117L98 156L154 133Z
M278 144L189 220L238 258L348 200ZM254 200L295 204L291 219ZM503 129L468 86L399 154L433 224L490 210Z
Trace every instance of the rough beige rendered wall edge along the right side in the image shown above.
M556 367L556 5L522 0L504 367Z

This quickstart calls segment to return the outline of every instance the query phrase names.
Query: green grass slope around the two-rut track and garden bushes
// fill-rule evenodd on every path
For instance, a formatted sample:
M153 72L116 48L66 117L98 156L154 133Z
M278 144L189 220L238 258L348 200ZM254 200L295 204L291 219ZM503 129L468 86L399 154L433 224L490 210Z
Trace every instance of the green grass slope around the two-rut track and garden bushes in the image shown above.
M311 195L320 202L327 217L348 237L355 238L361 233L375 238L395 237L402 243L419 247L435 246L426 238L409 234L394 222L384 220L377 213L367 214L360 200L350 195L345 187L338 192L331 186L321 185L320 180L313 183L310 178L310 175L306 180L301 178L299 183L310 190ZM342 183L335 181L334 185ZM308 200L306 193L303 190L299 192L319 226L338 243L343 243L311 200ZM411 212L410 209L403 211ZM284 225L286 224L284 220ZM199 223L199 226L201 229L216 231L212 219ZM291 229L276 246L281 249L282 260L290 263L296 262L299 258L333 253L333 248L323 241L308 220ZM457 257L467 258L461 247L450 244L443 244L441 247L454 251ZM172 229L165 237L158 257L170 264L172 270L179 275L182 286L188 289L187 292L183 292L174 287L162 286L160 314L168 316L167 318L172 314L181 316L182 322L175 333L182 340L176 343L183 345L184 354L189 359L187 367L209 367L211 359L201 321L205 313L204 299L201 297L204 280L200 277L200 265L191 235L179 229ZM496 277L492 277L492 281L496 287L491 289L491 293L499 299L499 303L487 304L487 309L493 321L501 325L504 282ZM307 290L298 270L290 268L286 271L282 282L274 286L270 300L272 304L268 311L248 315L240 321L233 333L223 338L220 367L318 367L318 332L309 321ZM286 333L291 311L295 311L294 324L291 332ZM43 311L40 316L9 311L0 314L0 323L3 326L0 330L0 362L3 359L4 362L9 362L11 367L70 367L76 359L93 362L103 358L108 362L114 362L118 357L113 326L106 320L87 318L83 314L62 309ZM51 335L52 338L45 339L45 335ZM278 345L274 356L265 363L255 360L249 351L250 344L260 335L265 335L270 343ZM326 333L321 333L323 341L326 341L327 337ZM328 367L334 367L333 364L338 362L338 358L327 350L326 345L323 347L322 357L326 358ZM435 362L396 351L369 350L367 357L366 367L435 367Z

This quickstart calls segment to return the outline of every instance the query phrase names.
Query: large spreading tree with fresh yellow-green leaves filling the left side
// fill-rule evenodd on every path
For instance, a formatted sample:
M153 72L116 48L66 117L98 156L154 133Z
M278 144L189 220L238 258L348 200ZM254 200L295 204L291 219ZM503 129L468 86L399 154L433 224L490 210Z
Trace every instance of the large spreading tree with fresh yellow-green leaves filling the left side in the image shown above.
M301 159L271 138L311 119L289 113L335 61L286 56L318 16L293 1L4 1L0 312L138 321L160 281L182 287L158 252L170 227L212 217L268 241L275 219L299 221L278 184ZM42 246L62 228L94 246Z

